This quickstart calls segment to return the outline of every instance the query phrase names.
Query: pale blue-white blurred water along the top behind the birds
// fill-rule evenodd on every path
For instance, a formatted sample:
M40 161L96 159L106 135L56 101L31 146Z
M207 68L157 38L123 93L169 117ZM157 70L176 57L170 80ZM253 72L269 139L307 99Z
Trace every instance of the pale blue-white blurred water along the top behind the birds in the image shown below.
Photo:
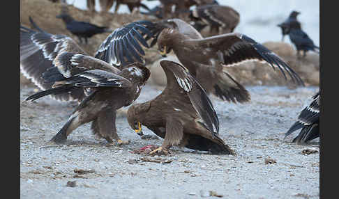
M241 13L239 25L234 31L245 33L255 38L257 42L280 41L281 31L276 25L287 19L292 10L299 11L301 14L298 19L301 22L301 28L308 33L315 45L320 45L319 0L218 0L218 2L224 6L231 6ZM86 10L85 0L67 0L67 3ZM159 1L146 0L142 3L149 8L160 4ZM113 13L114 7L115 5L110 9L110 13ZM100 10L99 0L96 0L96 10ZM128 7L121 4L118 13L129 13ZM288 36L285 42L291 44Z

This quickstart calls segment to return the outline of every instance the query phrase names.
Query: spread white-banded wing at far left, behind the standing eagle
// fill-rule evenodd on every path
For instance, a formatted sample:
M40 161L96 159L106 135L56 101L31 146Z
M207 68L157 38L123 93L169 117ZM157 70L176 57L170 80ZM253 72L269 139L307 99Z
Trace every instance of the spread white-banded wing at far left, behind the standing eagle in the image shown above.
M45 82L42 76L53 66L54 58L62 51L86 54L72 38L66 35L52 35L20 26L20 71L41 90L52 88L53 83ZM80 101L83 97L84 93L81 90L52 95L52 98L58 101Z

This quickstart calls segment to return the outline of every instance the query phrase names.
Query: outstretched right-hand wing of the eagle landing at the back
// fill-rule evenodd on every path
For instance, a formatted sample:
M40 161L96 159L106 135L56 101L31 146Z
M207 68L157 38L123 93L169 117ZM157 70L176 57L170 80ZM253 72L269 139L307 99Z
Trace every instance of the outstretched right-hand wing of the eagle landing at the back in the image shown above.
M186 42L188 45L201 48L202 50L215 51L215 54L218 55L218 61L224 67L239 65L245 61L262 61L269 63L273 69L278 67L285 79L287 79L286 71L292 78L292 81L303 85L299 75L282 58L247 35L227 33L209 38L186 40Z

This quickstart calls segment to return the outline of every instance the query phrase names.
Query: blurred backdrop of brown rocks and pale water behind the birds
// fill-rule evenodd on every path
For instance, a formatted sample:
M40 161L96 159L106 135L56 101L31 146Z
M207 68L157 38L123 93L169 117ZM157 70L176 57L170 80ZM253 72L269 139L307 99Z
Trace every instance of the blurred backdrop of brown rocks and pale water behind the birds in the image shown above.
M240 13L240 22L234 29L235 32L248 35L278 54L299 74L306 86L319 86L319 54L309 51L306 58L297 58L296 47L289 40L289 36L285 36L284 42L281 42L282 33L280 27L277 26L277 24L284 22L289 17L292 10L299 11L301 14L297 18L301 23L301 28L313 40L315 45L320 46L319 0L218 0L218 2L220 5L230 6ZM126 4L121 4L117 14L114 14L115 3L108 13L100 12L99 0L96 0L95 3L96 12L89 10L86 0L66 0L66 3L68 12L74 19L99 26L107 26L110 29L117 29L122 24L137 20L155 19L137 12L130 13ZM160 5L160 1L142 0L142 3L149 8ZM76 42L79 41L75 35L66 29L63 21L56 17L61 13L61 3L52 3L52 0L20 0L20 4L22 25L32 28L29 22L29 17L32 17L36 24L48 33L68 35ZM190 10L194 8L195 6L192 6ZM146 10L140 8L140 11ZM206 32L208 32L208 29L204 33ZM93 55L110 33L93 35L93 38L89 38L88 44L79 42L78 44L88 54ZM151 81L149 83L153 81L156 85L164 86L165 74L160 67L156 67L161 58L156 46L146 49L146 65L151 68ZM286 81L279 71L274 71L271 67L260 67L263 64L265 63L243 63L238 67L228 68L227 72L245 86L286 86L288 84L290 88L294 88L294 84ZM20 81L24 84L31 83L22 75Z

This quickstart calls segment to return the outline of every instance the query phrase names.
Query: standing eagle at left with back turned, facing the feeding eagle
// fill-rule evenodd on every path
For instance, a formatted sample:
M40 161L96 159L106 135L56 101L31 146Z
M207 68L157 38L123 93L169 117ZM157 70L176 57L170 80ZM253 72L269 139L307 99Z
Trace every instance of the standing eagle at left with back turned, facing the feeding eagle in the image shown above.
M116 110L129 106L137 99L149 78L149 70L140 63L132 63L119 70L97 58L69 52L60 53L53 62L64 79L55 81L52 88L35 93L27 100L74 90L85 90L86 97L51 141L63 143L74 129L92 122L93 134L109 143L113 140L126 143L116 134Z

